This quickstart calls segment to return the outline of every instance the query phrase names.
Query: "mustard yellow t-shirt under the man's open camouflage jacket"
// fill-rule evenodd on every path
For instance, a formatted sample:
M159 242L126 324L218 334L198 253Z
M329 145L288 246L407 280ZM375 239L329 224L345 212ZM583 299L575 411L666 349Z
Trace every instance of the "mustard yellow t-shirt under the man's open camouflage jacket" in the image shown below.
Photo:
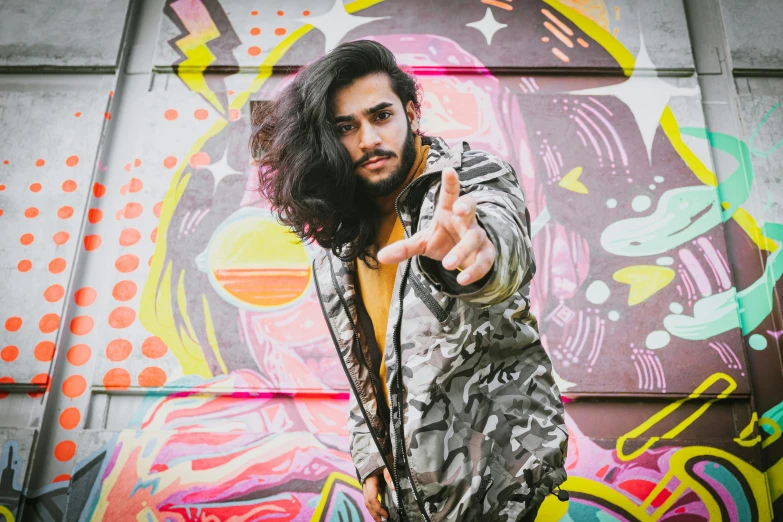
M397 211L394 209L394 200L411 181L424 172L427 167L427 154L430 150L429 145L422 146L420 136L416 136L415 147L416 158L413 161L413 167L407 181L393 194L377 201L379 208L387 209L380 216L378 235L375 241L378 250L405 237L405 230L397 218ZM377 269L374 269L368 268L363 261L358 260L356 266L359 279L359 293L367 314L372 319L373 329L375 330L375 342L378 344L378 349L381 352L380 381L381 386L383 386L386 403L389 404L389 390L386 387L386 362L383 354L386 349L386 323L389 318L389 308L391 308L394 294L394 278L397 275L397 263L388 265L378 263Z

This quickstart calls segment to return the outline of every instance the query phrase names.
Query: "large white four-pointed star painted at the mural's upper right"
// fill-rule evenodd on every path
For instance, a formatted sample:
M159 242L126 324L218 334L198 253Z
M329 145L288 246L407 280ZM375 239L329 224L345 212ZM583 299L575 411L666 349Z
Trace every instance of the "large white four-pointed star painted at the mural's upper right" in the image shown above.
M645 70L653 71L652 75L649 72L645 74L643 72ZM636 57L636 64L630 78L616 85L571 91L571 94L598 94L619 98L620 101L631 109L636 119L636 125L639 127L639 132L642 133L642 139L647 147L647 158L650 159L658 123L661 120L664 109L669 105L671 97L699 94L699 88L675 87L658 77L655 73L655 65L647 54L644 38L639 34L639 55Z

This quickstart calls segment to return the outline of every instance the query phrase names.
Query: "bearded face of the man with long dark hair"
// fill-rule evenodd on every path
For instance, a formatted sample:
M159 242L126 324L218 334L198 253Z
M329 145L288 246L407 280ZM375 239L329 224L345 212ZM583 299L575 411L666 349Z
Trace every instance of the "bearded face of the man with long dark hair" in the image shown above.
M373 73L334 94L334 121L365 194L391 194L407 178L418 128L413 102L403 107L388 75Z

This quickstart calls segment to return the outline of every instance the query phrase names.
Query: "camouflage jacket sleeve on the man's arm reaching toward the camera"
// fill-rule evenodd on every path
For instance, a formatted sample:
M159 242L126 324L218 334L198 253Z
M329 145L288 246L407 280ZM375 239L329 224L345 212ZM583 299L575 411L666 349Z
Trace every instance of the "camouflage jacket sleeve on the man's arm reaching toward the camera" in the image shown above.
M457 270L446 270L440 261L417 257L420 271L439 290L479 307L508 300L536 271L530 213L517 175L508 163L494 156L487 155L484 161L491 165L484 165L478 175L465 176L470 178L467 180L460 175L460 195L470 194L476 200L476 220L497 251L492 269L481 280L463 286L457 282ZM481 174L490 168L496 170ZM439 186L437 190L439 194Z

